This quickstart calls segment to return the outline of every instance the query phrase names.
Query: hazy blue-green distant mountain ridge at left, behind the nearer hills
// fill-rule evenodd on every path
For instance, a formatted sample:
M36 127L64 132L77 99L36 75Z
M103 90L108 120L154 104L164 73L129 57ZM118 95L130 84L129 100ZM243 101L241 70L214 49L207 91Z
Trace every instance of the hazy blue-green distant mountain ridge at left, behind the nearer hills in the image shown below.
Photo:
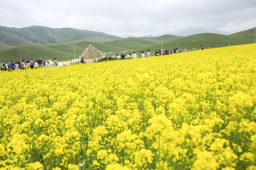
M49 28L44 26L14 28L0 26L0 43L11 46L67 44L74 41L107 42L121 39L123 38L115 35L74 28Z

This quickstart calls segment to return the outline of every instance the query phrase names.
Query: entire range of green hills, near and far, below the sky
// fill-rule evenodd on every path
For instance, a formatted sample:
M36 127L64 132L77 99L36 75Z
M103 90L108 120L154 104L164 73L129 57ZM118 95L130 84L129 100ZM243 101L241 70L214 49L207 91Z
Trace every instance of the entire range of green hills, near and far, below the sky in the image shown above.
M254 42L254 29L236 34L222 35L203 33L187 37L163 35L162 37L128 37L121 38L100 32L77 30L73 28L47 28L30 26L26 28L8 28L0 26L0 61L57 58L59 61L74 59L74 42L76 58L92 44L104 52L147 51L178 48L184 51L199 50L200 46L211 48ZM127 54L126 53L126 54Z

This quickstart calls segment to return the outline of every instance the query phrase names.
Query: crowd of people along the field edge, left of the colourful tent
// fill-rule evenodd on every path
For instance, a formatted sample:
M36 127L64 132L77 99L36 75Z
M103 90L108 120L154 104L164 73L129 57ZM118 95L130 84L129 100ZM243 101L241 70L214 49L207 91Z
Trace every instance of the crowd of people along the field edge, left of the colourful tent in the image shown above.
M58 61L54 58L52 64L46 59L24 59L24 60L17 60L16 62L9 61L8 63L1 63L0 70L20 70L26 68L42 68L42 67L55 67L58 65Z

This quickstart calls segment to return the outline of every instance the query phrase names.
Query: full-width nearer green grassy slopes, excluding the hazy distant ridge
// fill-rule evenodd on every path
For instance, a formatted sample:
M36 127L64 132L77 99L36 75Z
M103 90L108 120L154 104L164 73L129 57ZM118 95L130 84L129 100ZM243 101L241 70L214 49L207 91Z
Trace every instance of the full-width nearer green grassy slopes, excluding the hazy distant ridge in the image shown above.
M253 29L240 32L237 34L231 35L221 35L221 34L195 34L187 37L177 37L174 35L164 35L163 36L163 48L164 49L173 49L178 47L182 49L186 47L188 50L197 48L199 50L200 46L211 48L222 47L237 44L246 44L253 43L254 39L249 38L254 36L252 32ZM168 41L169 40L169 41ZM119 41L109 41L109 42L92 42L92 41L83 41L75 44L76 58L85 50L89 45L94 45L97 49L104 52L120 52L128 51L133 52L137 51L146 51L150 50L152 54L156 49L161 49L161 37L147 38L147 37L129 37ZM50 58L54 57L58 60L74 59L74 46L73 43L67 45L48 45L48 46L31 46L24 45L18 46L11 49L1 50L0 51L0 61L9 61L16 60L19 58L19 53L21 57L25 58Z

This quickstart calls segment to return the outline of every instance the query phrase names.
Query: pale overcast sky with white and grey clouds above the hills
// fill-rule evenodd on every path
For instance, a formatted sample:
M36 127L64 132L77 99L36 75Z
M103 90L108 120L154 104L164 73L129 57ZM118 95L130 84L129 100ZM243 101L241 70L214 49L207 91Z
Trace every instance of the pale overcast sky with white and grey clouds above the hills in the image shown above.
M256 27L256 0L0 0L0 26L70 27L121 37L232 34Z

